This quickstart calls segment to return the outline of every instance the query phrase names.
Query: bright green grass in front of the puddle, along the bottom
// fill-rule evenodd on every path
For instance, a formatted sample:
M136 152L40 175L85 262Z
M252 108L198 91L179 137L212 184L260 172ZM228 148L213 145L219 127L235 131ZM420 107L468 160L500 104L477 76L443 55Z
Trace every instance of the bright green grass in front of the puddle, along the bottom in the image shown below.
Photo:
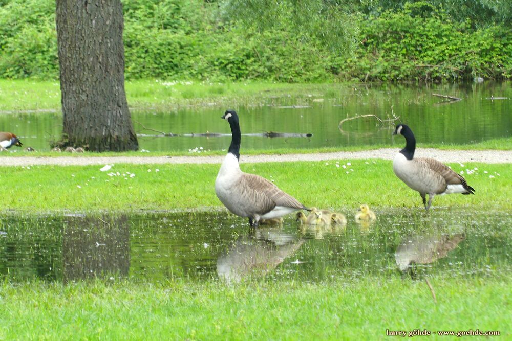
M507 338L510 280L431 277L437 303L424 281L399 275L234 286L4 282L0 338L381 339L386 329L498 330Z

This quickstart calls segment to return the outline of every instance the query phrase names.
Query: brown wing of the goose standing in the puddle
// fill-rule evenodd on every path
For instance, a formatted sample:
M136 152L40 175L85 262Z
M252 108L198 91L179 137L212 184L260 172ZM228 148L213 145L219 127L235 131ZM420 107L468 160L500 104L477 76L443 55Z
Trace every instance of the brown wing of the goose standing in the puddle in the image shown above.
M244 173L242 180L253 195L255 206L260 206L263 213L271 211L276 206L303 209L304 205L291 195L283 192L264 177ZM263 205L260 205L262 203Z

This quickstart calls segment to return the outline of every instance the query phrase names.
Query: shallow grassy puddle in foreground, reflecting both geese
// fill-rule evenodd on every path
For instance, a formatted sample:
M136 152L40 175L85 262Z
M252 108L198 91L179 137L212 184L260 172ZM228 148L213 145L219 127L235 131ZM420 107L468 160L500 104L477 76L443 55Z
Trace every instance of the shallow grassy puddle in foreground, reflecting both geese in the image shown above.
M343 211L342 211L343 212ZM162 282L323 281L365 275L492 276L512 270L512 215L438 209L378 211L339 228L251 231L225 212L0 217L0 278Z

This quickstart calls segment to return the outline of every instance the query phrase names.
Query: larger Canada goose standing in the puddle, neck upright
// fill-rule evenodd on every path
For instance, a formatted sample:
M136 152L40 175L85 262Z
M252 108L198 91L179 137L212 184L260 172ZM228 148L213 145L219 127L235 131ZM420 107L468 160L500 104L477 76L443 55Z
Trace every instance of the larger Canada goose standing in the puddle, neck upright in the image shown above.
M240 170L240 124L237 112L222 116L231 127L231 144L215 179L215 193L224 206L240 217L248 217L252 227L260 219L278 218L297 210L308 210L269 180Z

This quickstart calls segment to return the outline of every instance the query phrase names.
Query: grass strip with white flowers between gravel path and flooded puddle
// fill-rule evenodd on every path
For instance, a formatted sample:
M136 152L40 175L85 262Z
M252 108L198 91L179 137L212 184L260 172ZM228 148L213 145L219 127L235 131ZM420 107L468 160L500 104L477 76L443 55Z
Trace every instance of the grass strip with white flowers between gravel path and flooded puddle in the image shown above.
M345 165L347 162L351 165ZM275 181L307 206L348 209L366 202L374 207L421 207L418 193L401 183L393 173L390 161L343 160L339 166L336 167L335 161L329 161L242 163L241 168ZM476 189L476 195L436 197L434 207L512 208L508 200L512 193L509 164L451 166L457 172L464 171L468 184ZM222 207L214 190L219 165L116 164L108 172L100 172L100 168L0 168L0 192L4 198L9 198L4 200L2 209L44 212ZM467 169L474 168L478 168L475 173L466 174ZM120 175L109 176L112 172ZM128 172L135 176L130 177Z

